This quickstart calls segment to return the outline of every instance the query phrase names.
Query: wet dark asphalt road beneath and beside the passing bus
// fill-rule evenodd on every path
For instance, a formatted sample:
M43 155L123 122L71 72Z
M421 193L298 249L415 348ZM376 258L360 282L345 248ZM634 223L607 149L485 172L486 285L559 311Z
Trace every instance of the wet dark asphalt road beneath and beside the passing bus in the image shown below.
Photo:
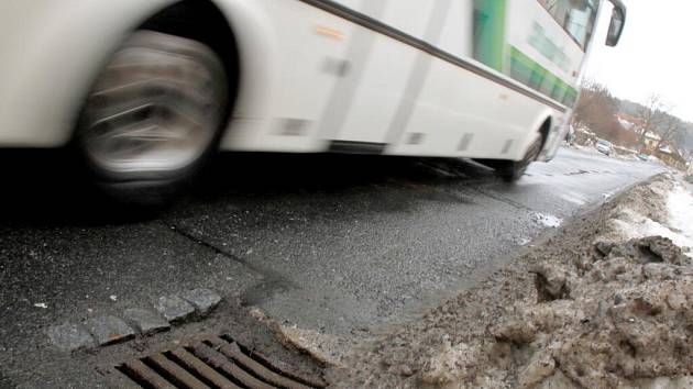
M663 169L562 149L508 186L464 160L229 155L176 204L145 214L94 200L51 157L3 158L0 387L98 385L91 359L52 349L46 327L199 287L361 336Z

